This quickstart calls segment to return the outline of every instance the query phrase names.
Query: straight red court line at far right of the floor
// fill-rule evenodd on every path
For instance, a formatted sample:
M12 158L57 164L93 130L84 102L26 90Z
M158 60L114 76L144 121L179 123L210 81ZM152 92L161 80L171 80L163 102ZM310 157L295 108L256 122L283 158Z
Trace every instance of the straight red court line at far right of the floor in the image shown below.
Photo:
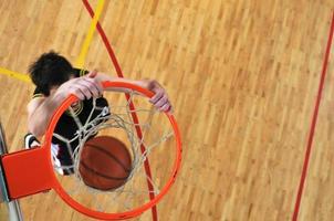
M316 102L315 102L315 107L314 107L314 112L313 112L309 141L307 141L307 147L306 147L306 152L305 152L305 158L304 158L304 165L303 165L303 170L302 170L302 175L301 175L301 181L300 181L300 186L299 186L299 191L298 191L298 196L296 196L292 221L298 220L298 215L299 215L299 211L300 211L300 207L301 207L301 200L302 200L304 183L305 183L305 179L306 179L307 168L309 168L309 160L310 160L310 156L311 156L314 131L315 131L315 126L316 126L316 122L317 122L317 114L319 114L320 103L321 103L321 98L322 98L322 93L323 93L327 66L328 66L333 34L334 34L334 12L333 12L330 36L328 36L328 41L327 41L327 45L326 45L322 75L321 75L321 81L320 81L320 85L319 85L319 92L317 92L317 97L316 97Z

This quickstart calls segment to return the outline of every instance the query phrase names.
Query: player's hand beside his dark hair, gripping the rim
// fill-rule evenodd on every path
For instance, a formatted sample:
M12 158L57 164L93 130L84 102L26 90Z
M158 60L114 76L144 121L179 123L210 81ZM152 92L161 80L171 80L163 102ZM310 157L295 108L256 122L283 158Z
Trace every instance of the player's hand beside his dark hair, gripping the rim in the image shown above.
M92 97L100 97L103 93L103 87L95 78L97 72L93 71L86 76L72 78L62 84L56 94L67 97L70 94L75 95L79 99L90 99Z

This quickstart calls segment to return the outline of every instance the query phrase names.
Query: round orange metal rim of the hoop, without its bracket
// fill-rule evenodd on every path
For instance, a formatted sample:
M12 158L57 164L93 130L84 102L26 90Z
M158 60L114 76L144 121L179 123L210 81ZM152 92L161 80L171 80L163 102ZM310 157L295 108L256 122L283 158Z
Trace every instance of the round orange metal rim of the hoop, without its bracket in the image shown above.
M143 87L139 87L137 85L134 84L129 84L129 83L122 83L122 82L103 82L103 87L107 88L107 87L119 87L119 88L129 88L133 90L135 92L140 93L142 95L145 95L146 97L150 98L154 93L145 90ZM45 133L45 141L44 145L48 148L48 155L51 156L51 139L53 136L53 130L55 128L55 125L58 123L58 120L60 119L61 115L70 107L70 105L74 102L76 102L79 98L74 95L70 95L61 105L60 107L54 112L53 117L50 120L49 127L46 129ZM150 201L148 201L147 203L143 204L142 207L138 207L136 209L126 211L126 212L121 212L121 213L105 213L105 212L100 212L100 211L95 211L92 210L87 207L84 207L82 204L80 204L79 202L76 202L75 200L72 199L72 197L62 188L62 186L60 185L60 182L58 181L54 172L52 172L53 175L53 180L52 180L52 188L58 192L58 194L72 208L74 208L75 210L77 210L81 213L84 213L88 217L92 218L96 218L96 219L104 219L104 220L119 220L119 219L128 219L128 218L133 218L133 217L137 217L138 214L143 213L144 211L150 209L152 207L154 207L166 193L167 191L170 189L171 185L175 182L178 170L180 168L180 164L181 164L181 138L180 138L180 131L178 129L178 125L176 123L176 119L173 115L166 114L166 116L169 119L169 123L174 129L174 134L175 134L175 138L176 138L176 158L175 158L175 162L174 162L174 167L173 167L173 172L167 181L167 183L165 185L165 187L160 190L160 192L154 197L154 199L152 199ZM50 158L51 159L51 158ZM51 161L50 161L51 164Z

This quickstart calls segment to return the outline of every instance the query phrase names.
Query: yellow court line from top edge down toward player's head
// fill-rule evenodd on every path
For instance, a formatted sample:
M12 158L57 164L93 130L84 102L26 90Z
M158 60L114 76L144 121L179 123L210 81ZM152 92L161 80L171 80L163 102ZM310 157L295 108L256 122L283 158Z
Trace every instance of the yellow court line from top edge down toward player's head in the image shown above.
M102 13L103 6L104 6L104 0L100 0L97 2L96 11L95 11L94 18L93 18L93 20L91 22L87 35L86 35L86 38L84 40L84 43L83 43L83 45L81 48L80 55L79 55L79 57L77 57L77 60L75 62L75 66L79 67L79 69L82 69L84 66L85 57L87 55L90 44L91 44L91 42L93 40L93 34L94 34L94 31L95 31L98 18L100 18L100 15Z

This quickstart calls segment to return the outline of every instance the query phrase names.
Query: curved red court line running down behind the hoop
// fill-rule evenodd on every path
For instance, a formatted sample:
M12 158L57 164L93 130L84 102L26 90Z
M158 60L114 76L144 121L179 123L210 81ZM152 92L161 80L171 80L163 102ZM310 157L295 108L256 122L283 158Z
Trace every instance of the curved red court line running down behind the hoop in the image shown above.
M93 11L92 7L90 6L90 2L87 0L82 0L82 1L84 3L85 8L87 9L90 15L93 18L94 17L94 11ZM97 29L97 31L100 33L100 36L102 38L102 41L103 41L103 43L104 43L104 45L105 45L105 48L106 48L106 50L108 52L108 55L109 55L109 57L111 57L111 60L112 60L112 62L114 64L114 67L116 70L116 73L117 73L118 77L124 77L122 69L121 69L121 66L119 66L119 64L117 62L116 55L114 53L114 50L112 49L112 46L109 44L109 41L106 38L106 34L105 34L104 30L102 29L102 27L101 27L101 24L100 24L98 21L97 21L97 24L96 24L96 29ZM128 94L126 94L126 98L127 99L131 98ZM131 109L135 109L135 106L134 106L134 104L132 102L129 104L129 108ZM133 117L134 122L137 124L138 123L138 117L137 117L137 115L136 115L135 112L132 112L132 117ZM137 133L137 136L139 138L143 137L143 133L142 133L140 127L136 127L136 133ZM145 149L146 149L145 146L142 144L140 145L142 152L144 152ZM144 167L145 167L146 176L148 177L148 179L147 179L147 186L148 186L148 190L149 190L149 199L153 200L155 198L155 194L154 194L154 187L153 187L152 182L149 181L149 179L152 180L152 171L150 171L148 158L146 158L146 160L144 161ZM153 215L153 220L154 221L158 220L158 213L157 213L156 206L152 207L152 215Z

